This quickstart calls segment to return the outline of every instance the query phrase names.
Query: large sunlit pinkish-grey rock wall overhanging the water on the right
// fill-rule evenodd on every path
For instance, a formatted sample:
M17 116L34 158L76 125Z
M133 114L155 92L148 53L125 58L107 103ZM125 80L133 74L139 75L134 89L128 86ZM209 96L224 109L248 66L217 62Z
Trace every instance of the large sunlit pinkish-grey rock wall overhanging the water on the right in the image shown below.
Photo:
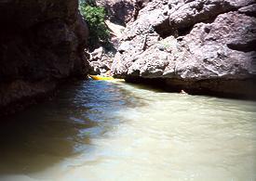
M115 76L173 89L256 97L255 0L155 0L129 24ZM155 81L153 81L155 80Z

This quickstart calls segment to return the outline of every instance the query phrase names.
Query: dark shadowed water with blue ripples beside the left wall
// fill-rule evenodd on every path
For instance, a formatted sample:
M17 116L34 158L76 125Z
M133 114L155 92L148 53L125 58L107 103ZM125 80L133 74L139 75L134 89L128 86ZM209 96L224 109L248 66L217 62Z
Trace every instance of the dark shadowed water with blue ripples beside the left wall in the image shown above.
M115 112L142 106L139 97L107 82L63 85L57 97L1 118L0 175L38 172L83 152L90 139L120 123Z

